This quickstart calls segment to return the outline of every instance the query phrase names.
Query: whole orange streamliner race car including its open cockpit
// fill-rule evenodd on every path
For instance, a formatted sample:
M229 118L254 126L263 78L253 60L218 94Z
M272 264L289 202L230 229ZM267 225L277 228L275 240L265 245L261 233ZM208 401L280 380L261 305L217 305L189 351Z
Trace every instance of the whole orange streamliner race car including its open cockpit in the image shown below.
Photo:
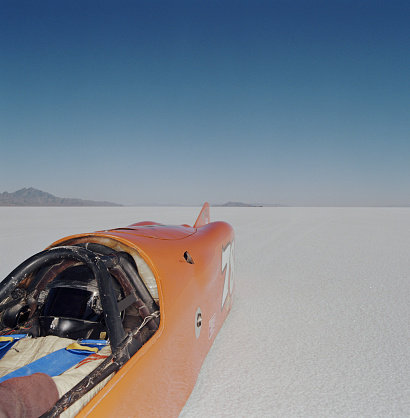
M178 416L233 302L234 231L63 238L0 283L0 416ZM8 414L8 415L7 415Z

